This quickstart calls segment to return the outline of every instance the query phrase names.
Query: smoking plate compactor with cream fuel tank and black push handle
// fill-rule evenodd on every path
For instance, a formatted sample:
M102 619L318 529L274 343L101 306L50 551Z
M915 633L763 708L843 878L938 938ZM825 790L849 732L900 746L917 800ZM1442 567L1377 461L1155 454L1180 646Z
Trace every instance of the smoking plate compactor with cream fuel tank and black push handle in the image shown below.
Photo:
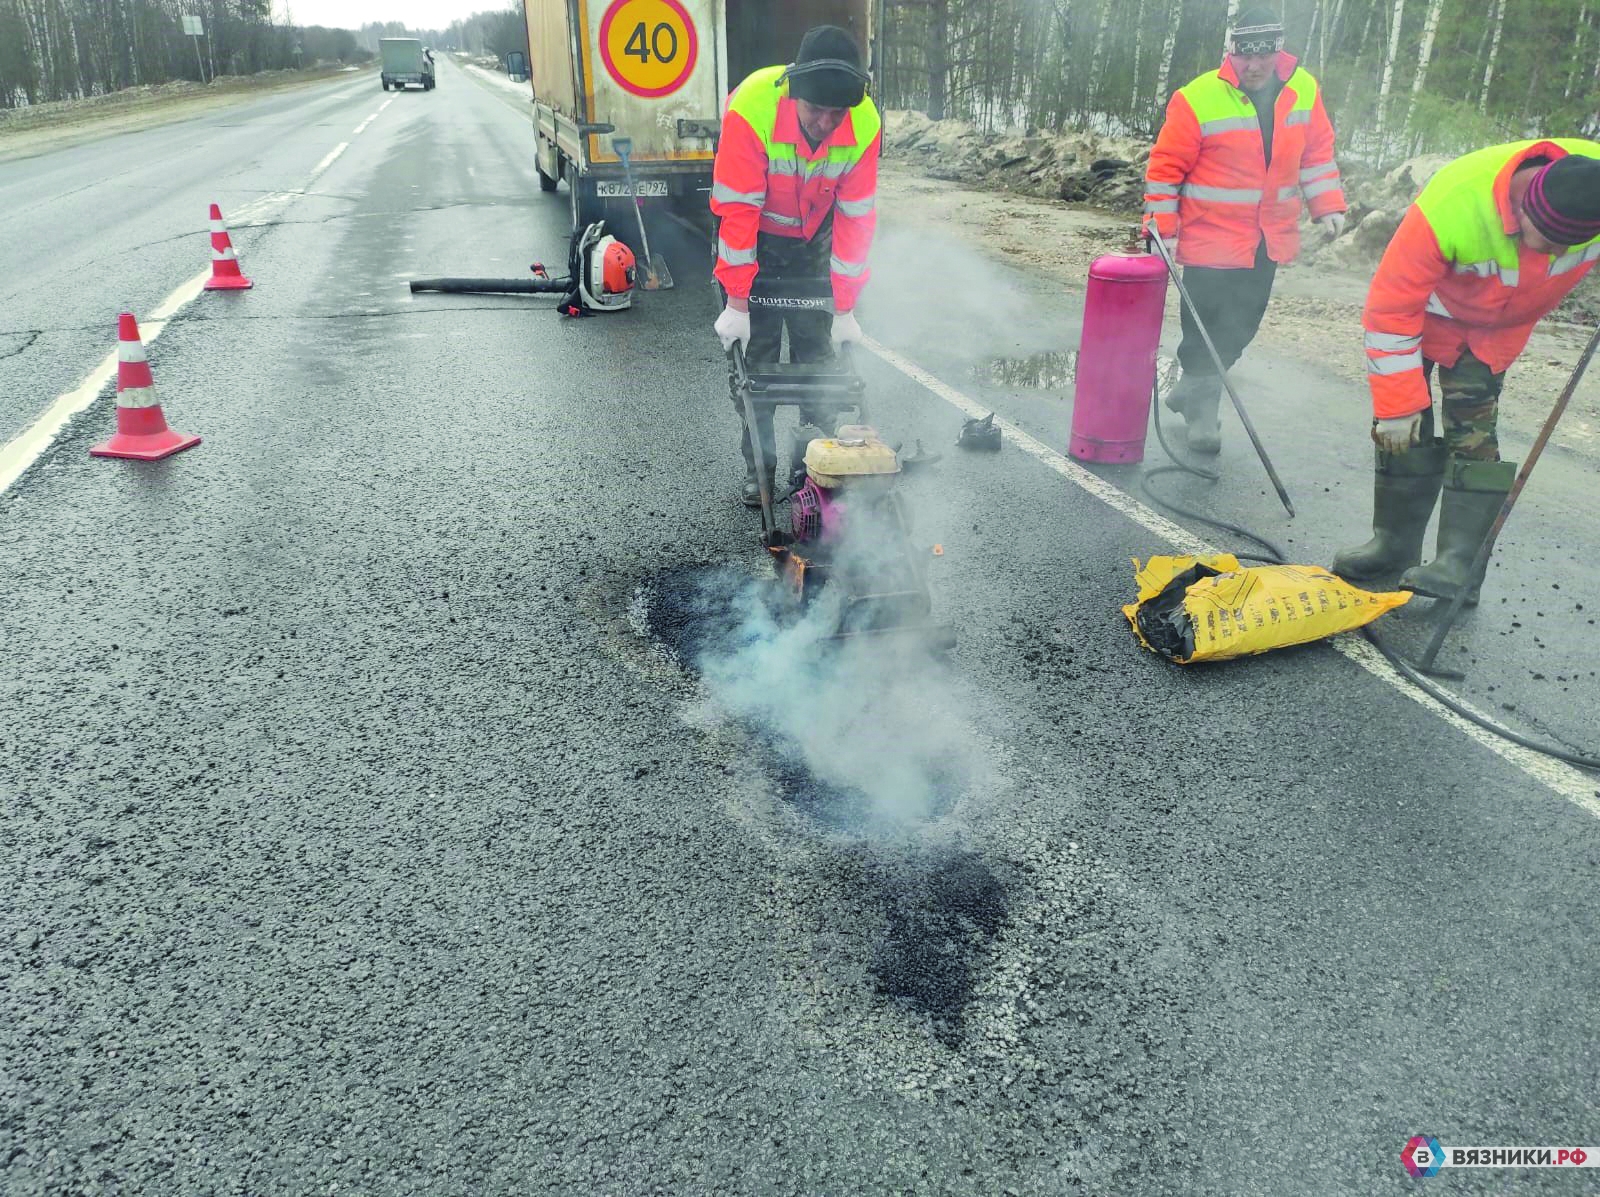
M784 280L758 275L750 307L826 310L829 280ZM866 382L850 346L832 362L760 363L744 346L728 350L728 386L744 421L760 490L762 546L771 554L782 590L805 608L824 589L840 589L832 640L907 637L933 651L955 647L955 629L933 619L928 562L938 549L912 542L906 507L896 491L901 458L867 422ZM757 413L808 406L840 416L854 411L832 437L816 437L803 464L790 462L790 478L776 493L773 469L762 450ZM778 507L787 506L787 526Z

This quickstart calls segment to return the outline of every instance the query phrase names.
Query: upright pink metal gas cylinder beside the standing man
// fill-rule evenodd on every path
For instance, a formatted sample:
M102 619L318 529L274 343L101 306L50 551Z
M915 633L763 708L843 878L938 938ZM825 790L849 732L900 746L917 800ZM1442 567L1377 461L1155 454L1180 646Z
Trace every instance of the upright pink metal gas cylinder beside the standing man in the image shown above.
M1155 254L1090 264L1067 450L1078 461L1144 461L1165 307L1166 266Z

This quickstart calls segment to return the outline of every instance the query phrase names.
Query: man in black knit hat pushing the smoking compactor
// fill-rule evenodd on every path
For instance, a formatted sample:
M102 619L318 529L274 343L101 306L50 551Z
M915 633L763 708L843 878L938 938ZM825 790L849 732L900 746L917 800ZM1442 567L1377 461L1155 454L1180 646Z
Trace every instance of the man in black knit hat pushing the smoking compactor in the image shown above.
M723 349L744 344L752 365L778 362L786 325L790 362L826 362L835 344L861 339L854 309L877 226L882 133L867 82L856 38L818 26L794 62L757 70L728 99L710 192L720 218L715 275L728 296L717 336ZM760 270L830 278L834 312L752 312ZM834 430L827 410L802 406L802 419ZM758 413L757 424L771 467L771 411ZM742 499L754 507L760 491L749 430L742 450Z

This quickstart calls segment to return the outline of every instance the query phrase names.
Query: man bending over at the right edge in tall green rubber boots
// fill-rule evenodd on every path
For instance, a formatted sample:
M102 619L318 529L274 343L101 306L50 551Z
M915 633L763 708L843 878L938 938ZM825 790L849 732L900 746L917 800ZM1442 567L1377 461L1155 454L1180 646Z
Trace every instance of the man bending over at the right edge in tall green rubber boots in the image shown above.
M1366 291L1373 539L1334 573L1478 600L1469 576L1517 477L1496 419L1506 370L1534 323L1600 261L1600 142L1518 141L1456 158L1406 211ZM1429 384L1438 373L1443 437ZM1422 534L1443 488L1438 552ZM1403 573L1402 573L1403 571Z

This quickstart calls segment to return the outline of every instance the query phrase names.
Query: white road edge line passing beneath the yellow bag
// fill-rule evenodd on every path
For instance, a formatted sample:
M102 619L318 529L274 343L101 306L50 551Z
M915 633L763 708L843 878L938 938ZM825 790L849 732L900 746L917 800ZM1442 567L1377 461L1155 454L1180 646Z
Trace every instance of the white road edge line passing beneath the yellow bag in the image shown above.
M862 341L862 346L869 352L875 354L882 362L894 366L894 370L906 374L906 378L925 387L926 390L931 390L934 395L938 395L958 411L973 418L982 418L989 414L990 408L974 403L960 390L934 378L926 370L918 366L915 362L901 357L893 349L878 344L872 338L866 338ZM1218 546L1210 544L1208 541L1195 536L1187 528L1181 528L1160 512L1146 507L1142 502L1139 502L1126 491L1118 490L1117 486L1098 477L1096 474L1091 474L1070 458L1050 448L1050 445L1030 437L1027 432L1016 427L1010 421L1002 419L998 414L995 416L995 424L998 424L1005 430L1006 438L1019 450L1022 450L1022 453L1027 453L1030 458L1035 458L1037 461L1043 462L1056 474L1064 477L1067 482L1083 488L1101 502L1122 512L1130 520L1138 523L1141 528L1146 528L1147 531L1160 536L1163 541L1176 547L1179 552L1186 554L1222 552L1222 549L1219 549ZM1501 739L1486 728L1480 728L1472 720L1462 719L1459 714L1446 707L1438 699L1432 698L1430 695L1411 685L1394 666L1390 666L1384 659L1382 653L1379 653L1376 648L1373 648L1370 643L1366 643L1355 634L1334 637L1328 643L1333 645L1336 651L1342 653L1346 658L1349 658L1357 666L1365 669L1368 674L1379 679L1381 682L1389 683L1402 695L1410 698L1413 703L1419 704L1430 714L1438 715L1438 719L1450 723L1450 727L1466 733L1470 739L1477 741L1490 752L1496 754L1507 763L1520 768L1534 781L1541 783L1542 786L1549 786L1552 791L1560 794L1573 805L1581 807L1584 811L1594 815L1595 818L1600 818L1600 784L1597 784L1595 779L1587 773L1584 773L1582 770L1573 768L1571 765L1566 765L1560 760L1546 757L1544 754L1534 752L1533 749L1526 749L1522 744L1512 744L1509 739ZM1456 695L1451 695L1451 698L1461 703L1467 711L1472 711L1474 715L1478 715L1480 719L1486 719L1490 723L1494 723L1493 719L1480 712L1470 703L1464 703ZM1499 727L1499 723L1494 725Z

